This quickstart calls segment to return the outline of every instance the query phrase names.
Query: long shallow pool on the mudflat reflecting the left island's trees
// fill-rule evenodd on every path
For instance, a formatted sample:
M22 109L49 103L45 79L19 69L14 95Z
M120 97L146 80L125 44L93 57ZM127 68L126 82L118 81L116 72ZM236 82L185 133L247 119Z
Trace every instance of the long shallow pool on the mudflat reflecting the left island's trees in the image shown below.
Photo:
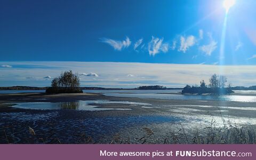
M128 111L131 108L103 108L100 104L126 104L126 105L151 105L148 103L128 102L128 101L109 101L109 100L79 100L76 102L26 102L15 103L16 108L26 108L33 110L82 110L82 111L107 111L121 110Z

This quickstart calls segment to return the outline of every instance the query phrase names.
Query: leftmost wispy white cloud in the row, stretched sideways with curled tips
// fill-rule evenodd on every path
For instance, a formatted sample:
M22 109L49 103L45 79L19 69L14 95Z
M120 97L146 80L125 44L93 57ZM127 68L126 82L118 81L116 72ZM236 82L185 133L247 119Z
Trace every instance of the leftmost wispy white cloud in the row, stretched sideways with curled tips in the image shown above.
M115 50L122 50L131 45L131 40L129 39L129 37L126 37L126 39L123 41L109 39L109 38L101 38L101 40L103 43L107 43L110 46L112 46Z

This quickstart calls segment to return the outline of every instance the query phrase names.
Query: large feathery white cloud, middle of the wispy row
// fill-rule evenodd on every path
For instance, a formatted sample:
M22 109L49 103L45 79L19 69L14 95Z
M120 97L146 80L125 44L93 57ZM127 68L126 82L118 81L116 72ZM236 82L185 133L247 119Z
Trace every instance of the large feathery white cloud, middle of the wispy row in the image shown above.
M163 38L160 39L152 36L151 41L148 43L149 55L155 56L161 51L164 53L168 52L169 44L168 43L163 44L163 40L164 40Z

